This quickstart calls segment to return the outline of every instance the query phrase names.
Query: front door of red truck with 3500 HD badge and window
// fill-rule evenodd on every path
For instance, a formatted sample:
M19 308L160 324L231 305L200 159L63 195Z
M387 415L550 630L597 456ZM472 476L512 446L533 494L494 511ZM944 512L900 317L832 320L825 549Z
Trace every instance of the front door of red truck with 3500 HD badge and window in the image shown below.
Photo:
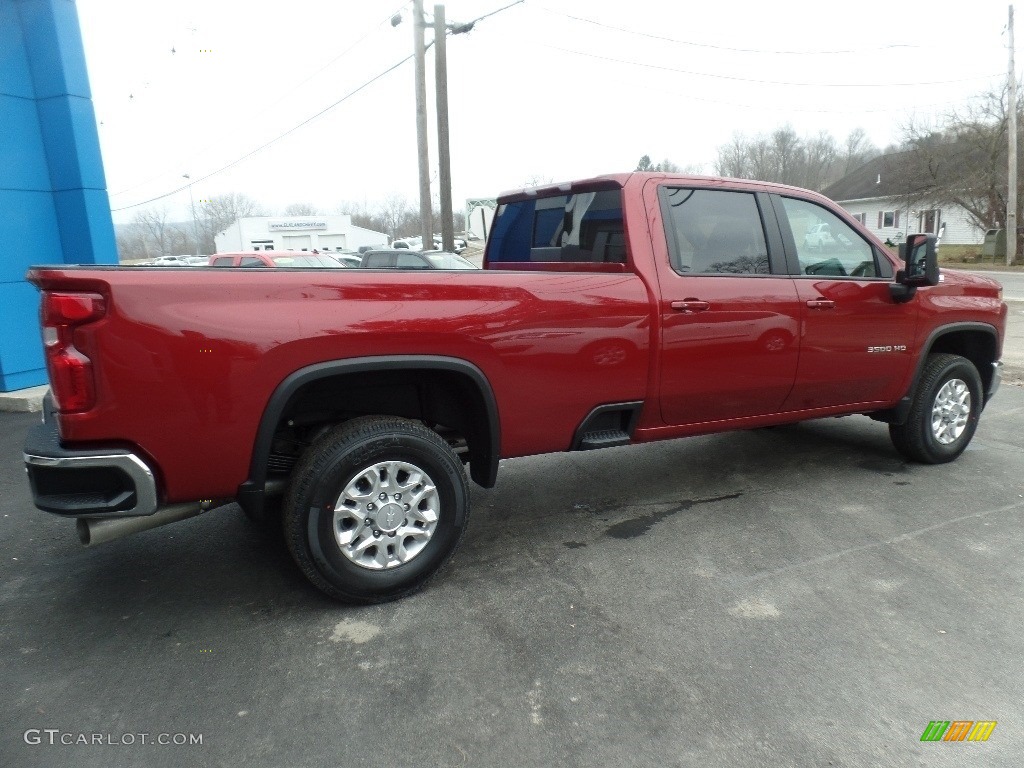
M783 196L772 202L803 311L800 368L786 410L902 396L919 302L892 300L892 263L825 206ZM817 237L822 228L831 237Z

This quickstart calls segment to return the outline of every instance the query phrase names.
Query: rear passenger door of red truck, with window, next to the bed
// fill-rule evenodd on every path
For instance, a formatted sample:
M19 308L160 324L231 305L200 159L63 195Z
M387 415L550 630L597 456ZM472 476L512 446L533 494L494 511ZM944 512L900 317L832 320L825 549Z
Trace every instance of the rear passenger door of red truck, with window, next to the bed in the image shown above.
M668 250L665 258L655 242L665 422L781 410L797 374L801 310L769 197L671 183L656 195Z

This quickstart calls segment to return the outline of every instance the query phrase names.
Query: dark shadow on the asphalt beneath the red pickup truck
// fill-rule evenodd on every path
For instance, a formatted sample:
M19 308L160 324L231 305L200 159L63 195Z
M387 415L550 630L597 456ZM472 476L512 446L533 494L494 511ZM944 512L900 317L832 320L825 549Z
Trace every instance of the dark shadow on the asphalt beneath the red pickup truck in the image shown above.
M778 483L799 482L813 497L831 493L841 478L870 473L905 482L919 471L927 468L904 464L884 425L866 419L503 462L497 487L472 486L470 528L455 567L479 569L475 577L486 579L488 563L528 554L550 543L552 530L568 553L584 546L572 531L594 524L610 538L630 539L680 511L715 515L738 507L756 516L757 505L746 501ZM723 501L730 504L717 504ZM161 616L166 634L177 631L172 625L225 610L257 623L282 612L361 610L308 585L283 540L254 528L237 505L94 549L61 549L72 572L54 589L54 607L66 622L128 631L123 616ZM459 575L451 570L433 589L453 586Z

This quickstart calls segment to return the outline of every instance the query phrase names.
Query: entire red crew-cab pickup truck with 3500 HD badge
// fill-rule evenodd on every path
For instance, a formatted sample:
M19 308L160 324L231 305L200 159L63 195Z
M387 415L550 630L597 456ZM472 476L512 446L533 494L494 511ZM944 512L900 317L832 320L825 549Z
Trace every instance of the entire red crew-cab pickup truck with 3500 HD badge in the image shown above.
M34 267L35 504L96 544L237 500L374 602L454 552L464 464L844 414L950 461L1007 306L904 250L807 190L633 173L503 196L482 270Z

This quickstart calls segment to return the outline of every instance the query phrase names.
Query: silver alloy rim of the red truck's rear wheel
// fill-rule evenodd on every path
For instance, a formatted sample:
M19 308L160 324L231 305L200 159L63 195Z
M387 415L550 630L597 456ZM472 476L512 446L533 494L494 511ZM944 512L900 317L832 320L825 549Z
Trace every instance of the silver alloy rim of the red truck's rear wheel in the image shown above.
M352 476L334 505L341 553L370 570L407 563L427 546L440 514L430 476L408 462L380 462Z

